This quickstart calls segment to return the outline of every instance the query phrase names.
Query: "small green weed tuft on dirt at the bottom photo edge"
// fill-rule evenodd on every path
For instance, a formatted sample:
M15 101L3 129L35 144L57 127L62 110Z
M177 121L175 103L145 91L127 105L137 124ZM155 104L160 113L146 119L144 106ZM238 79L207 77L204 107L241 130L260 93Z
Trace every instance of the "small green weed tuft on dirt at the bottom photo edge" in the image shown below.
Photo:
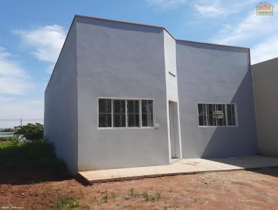
M80 209L80 201L76 200L72 196L62 195L58 196L56 199L56 204L54 210L70 210L70 209Z

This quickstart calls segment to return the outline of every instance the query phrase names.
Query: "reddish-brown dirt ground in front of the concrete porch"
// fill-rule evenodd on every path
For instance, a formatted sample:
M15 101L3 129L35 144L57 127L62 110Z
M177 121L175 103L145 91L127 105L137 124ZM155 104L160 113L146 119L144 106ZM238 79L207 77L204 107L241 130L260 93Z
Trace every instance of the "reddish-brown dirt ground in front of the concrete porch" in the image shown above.
M6 180L0 177L0 209L53 209L61 196L79 200L80 209L277 209L277 177L278 168L92 186L84 186L75 179L8 184L8 177Z

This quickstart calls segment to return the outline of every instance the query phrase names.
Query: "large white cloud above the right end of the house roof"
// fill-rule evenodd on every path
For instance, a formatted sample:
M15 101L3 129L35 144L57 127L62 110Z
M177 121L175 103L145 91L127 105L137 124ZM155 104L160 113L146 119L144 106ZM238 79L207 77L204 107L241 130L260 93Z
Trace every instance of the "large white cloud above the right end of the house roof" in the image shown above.
M238 24L224 25L211 42L250 47L251 62L254 64L278 57L277 34L277 17L256 15L254 9Z

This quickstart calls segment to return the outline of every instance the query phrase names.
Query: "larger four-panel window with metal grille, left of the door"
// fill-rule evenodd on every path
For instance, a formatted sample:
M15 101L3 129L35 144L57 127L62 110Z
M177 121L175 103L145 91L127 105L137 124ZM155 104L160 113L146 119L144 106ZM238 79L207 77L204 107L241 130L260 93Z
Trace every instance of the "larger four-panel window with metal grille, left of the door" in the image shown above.
M99 99L99 127L154 127L154 100Z

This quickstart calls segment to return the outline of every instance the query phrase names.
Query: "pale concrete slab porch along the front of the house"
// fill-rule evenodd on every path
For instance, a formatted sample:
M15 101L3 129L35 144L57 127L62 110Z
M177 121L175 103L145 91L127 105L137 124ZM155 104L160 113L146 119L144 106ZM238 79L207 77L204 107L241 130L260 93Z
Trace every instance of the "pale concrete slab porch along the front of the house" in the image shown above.
M268 156L241 156L224 159L180 159L170 165L157 165L138 168L118 168L78 172L88 184L104 181L185 175L201 172L243 170L278 166L278 158Z

